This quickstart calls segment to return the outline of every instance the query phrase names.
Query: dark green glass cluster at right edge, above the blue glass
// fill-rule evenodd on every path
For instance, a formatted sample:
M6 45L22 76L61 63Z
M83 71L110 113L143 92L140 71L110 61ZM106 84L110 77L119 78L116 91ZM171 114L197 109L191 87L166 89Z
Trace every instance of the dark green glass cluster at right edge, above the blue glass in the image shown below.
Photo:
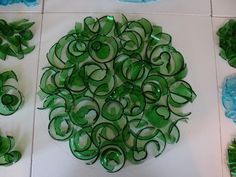
M236 68L236 20L229 20L221 27L217 35L220 43L220 56Z

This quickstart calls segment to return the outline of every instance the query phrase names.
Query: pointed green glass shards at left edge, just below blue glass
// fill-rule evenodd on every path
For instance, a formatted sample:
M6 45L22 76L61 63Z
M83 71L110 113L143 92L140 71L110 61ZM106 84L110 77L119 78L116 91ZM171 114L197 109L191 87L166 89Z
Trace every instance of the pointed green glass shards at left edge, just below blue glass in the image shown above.
M0 19L0 59L5 60L7 56L23 59L25 54L32 52L35 46L29 41L33 38L30 27L34 22L23 19L11 23Z

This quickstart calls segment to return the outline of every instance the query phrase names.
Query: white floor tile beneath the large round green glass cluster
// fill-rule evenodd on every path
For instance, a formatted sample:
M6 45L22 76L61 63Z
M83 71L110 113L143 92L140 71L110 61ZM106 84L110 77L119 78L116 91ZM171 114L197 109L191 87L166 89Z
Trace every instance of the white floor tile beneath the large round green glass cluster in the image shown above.
M67 1L68 2L68 1ZM49 1L48 7L49 5ZM52 8L53 6L51 6ZM49 8L47 8L49 9ZM55 8L56 9L56 8ZM43 21L41 68L47 66L46 54L60 37L74 27L76 21L95 13L45 14ZM214 44L210 17L182 15L130 14L131 19L145 17L163 26L173 37L173 46L184 56L189 74L186 80L198 97L186 107L192 111L189 123L180 123L181 139L169 146L158 158L141 165L129 165L115 174L117 177L222 177L220 125L217 100ZM117 15L119 18L119 15ZM36 105L41 101L37 97ZM87 166L70 153L67 142L52 140L47 132L48 111L36 110L32 177L108 177L99 163Z

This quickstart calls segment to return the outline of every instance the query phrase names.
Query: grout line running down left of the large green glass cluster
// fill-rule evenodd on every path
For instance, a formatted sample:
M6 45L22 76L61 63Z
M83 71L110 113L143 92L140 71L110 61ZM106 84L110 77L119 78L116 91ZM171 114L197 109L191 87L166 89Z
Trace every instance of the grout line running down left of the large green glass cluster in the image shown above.
M41 40L42 40L42 31L43 31L43 13L41 14L41 27L40 27L40 36L39 36L39 51L38 51L38 62L37 62L37 69L36 69L36 84L35 84L35 96L34 96L34 117L33 117L33 135L32 135L32 144L31 144L31 159L30 159L30 174L29 176L32 177L32 170L33 170L33 153L34 153L34 135L35 135L35 115L36 115L36 100L37 100L37 86L38 86L38 72L39 72L39 60L40 60L40 53L41 53Z

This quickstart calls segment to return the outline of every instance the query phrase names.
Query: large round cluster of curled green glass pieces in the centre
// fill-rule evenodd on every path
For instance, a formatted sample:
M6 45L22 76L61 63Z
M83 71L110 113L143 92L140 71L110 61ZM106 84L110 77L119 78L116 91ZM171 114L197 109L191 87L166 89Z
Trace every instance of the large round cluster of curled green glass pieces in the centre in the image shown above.
M160 26L142 18L86 17L47 54L39 95L50 109L48 131L69 140L87 164L108 172L139 163L176 143L181 108L196 97L187 66Z

